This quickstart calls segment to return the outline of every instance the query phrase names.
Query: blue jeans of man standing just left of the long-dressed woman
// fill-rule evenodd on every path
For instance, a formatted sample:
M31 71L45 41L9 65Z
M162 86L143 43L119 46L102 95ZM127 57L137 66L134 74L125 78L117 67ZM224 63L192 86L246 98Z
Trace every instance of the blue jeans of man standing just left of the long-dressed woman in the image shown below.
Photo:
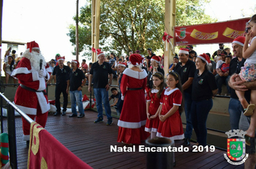
M111 108L109 105L109 92L106 91L105 88L93 88L94 95L96 97L96 107L98 110L98 117L103 118L103 107L102 107L102 101L104 104L104 108L106 111L106 117L108 119L111 119Z

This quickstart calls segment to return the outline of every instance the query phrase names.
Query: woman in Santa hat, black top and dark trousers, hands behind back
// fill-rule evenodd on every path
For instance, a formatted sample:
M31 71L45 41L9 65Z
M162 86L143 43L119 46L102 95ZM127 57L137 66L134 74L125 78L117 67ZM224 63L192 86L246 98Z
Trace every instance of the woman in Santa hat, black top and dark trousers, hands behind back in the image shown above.
M206 146L206 120L213 106L212 97L218 91L214 74L207 69L209 63L211 61L207 54L200 54L196 58L196 72L192 83L192 124L198 145L203 146Z

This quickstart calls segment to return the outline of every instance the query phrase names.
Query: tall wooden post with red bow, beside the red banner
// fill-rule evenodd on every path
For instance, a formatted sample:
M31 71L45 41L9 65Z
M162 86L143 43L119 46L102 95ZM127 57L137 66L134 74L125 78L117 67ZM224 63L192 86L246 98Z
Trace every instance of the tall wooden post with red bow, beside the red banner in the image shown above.
M175 6L176 2L175 0L165 0L165 32L168 33L170 36L174 37L174 28L176 24L175 20ZM170 39L170 42L174 44L174 39ZM165 42L166 43L166 42ZM174 57L174 48L172 49L171 45L168 44L168 50L166 51L166 44L164 47L164 70L165 74L168 73L168 68L170 66L170 63L173 62Z

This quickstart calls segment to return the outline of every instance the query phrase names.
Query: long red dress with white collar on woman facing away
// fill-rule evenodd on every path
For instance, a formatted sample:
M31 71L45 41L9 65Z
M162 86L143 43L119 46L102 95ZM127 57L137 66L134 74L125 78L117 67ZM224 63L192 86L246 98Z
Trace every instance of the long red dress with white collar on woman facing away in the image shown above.
M124 105L120 115L117 142L140 144L150 133L145 132L147 121L145 87L147 72L125 69L120 84Z

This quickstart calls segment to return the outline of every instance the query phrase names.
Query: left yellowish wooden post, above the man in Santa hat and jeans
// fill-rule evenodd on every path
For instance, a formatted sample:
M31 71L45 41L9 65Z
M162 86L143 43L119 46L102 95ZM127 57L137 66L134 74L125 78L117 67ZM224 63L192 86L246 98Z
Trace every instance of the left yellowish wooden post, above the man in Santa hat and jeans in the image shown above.
M91 47L99 49L99 23L101 16L101 0L91 1ZM91 52L92 62L97 61L96 53Z

